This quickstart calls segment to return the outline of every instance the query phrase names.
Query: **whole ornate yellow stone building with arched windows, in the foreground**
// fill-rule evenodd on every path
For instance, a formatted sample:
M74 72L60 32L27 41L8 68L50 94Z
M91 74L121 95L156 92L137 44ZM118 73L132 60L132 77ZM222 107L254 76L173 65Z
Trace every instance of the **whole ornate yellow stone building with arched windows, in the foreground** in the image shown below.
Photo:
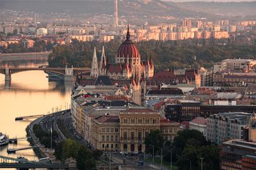
M160 113L148 108L120 110L118 115L102 115L93 118L91 144L105 151L145 152L145 137L152 130L161 131L166 141L180 130L178 122L160 117Z

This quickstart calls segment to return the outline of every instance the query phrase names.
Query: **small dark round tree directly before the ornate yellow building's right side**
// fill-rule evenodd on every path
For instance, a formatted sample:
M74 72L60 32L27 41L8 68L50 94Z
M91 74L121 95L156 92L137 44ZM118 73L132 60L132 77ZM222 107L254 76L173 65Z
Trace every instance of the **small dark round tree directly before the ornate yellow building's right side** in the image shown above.
M157 130L152 130L145 138L146 152L152 153L154 146L154 155L160 153L159 148L163 148L164 138L160 134L161 132Z

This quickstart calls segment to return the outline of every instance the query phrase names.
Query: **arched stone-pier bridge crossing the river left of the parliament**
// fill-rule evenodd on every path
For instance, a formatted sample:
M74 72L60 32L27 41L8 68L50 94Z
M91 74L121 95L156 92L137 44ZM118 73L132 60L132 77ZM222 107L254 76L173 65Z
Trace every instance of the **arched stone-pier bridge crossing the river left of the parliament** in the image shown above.
M5 74L5 81L12 80L12 74L22 71L40 70L65 75L65 81L74 81L77 74L90 73L88 67L0 67L0 73Z

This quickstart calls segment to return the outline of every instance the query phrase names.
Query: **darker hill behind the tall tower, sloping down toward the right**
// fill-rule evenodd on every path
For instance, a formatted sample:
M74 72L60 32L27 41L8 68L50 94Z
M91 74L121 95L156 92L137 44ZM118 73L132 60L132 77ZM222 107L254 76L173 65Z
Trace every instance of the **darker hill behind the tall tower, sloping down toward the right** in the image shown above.
M113 0L1 0L1 9L28 10L36 13L86 13L90 15L113 15ZM173 16L175 18L205 16L205 13L180 9L160 0L118 1L118 15L136 17Z

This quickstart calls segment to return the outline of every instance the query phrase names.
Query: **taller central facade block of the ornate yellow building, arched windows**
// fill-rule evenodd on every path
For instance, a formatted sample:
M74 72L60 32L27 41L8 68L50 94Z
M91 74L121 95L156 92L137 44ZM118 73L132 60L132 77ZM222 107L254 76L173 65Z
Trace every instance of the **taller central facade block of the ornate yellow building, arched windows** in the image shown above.
M144 152L147 134L160 129L160 113L147 108L122 111L120 118L120 151Z

